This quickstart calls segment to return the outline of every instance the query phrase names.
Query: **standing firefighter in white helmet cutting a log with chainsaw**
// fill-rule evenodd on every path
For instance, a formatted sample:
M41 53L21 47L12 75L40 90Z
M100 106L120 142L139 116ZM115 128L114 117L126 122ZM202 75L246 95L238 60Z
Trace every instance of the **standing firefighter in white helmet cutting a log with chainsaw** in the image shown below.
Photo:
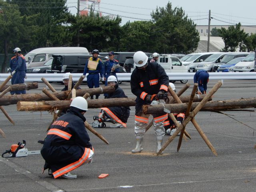
M158 63L150 63L148 56L142 52L134 53L134 65L136 69L131 75L131 90L136 98L135 105L135 137L136 147L132 153L140 153L142 151L143 136L148 123L148 116L142 112L142 106L145 104L164 104L167 98L167 90L169 85L169 77L166 75L163 67ZM156 100L156 101L153 101ZM152 102L153 101L153 102ZM154 131L156 134L157 149L161 149L162 141L165 134L164 120L167 114L153 114Z

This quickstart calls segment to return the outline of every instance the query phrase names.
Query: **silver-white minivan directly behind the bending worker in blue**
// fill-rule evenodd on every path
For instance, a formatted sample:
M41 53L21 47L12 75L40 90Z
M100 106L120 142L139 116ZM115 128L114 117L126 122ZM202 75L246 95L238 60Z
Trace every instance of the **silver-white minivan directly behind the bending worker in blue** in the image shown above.
M203 62L197 63L195 72L198 70L206 70L208 72L212 72L214 64L220 63L222 58L227 54L230 54L230 52L219 52L219 53L212 54L211 56L206 58Z

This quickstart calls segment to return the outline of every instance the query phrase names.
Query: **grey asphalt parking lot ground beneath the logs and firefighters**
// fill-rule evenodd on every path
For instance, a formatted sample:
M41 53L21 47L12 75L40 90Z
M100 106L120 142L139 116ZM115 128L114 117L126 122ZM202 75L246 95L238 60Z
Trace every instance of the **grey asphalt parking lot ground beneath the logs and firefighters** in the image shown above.
M208 90L216 82L210 80ZM188 83L191 86L184 95L192 91L192 80ZM52 85L57 91L63 88L61 84ZM184 84L177 82L175 86L180 90ZM28 90L27 93L41 93L43 87L45 85L39 83L37 90ZM80 87L87 88L87 84ZM120 87L128 97L134 97L129 82L123 82ZM224 80L213 100L252 98L255 95L256 80ZM46 136L52 115L48 112L18 112L16 105L4 106L4 109L15 125L0 113L0 128L6 134L6 138L0 137L0 153L22 140L26 140L28 150L39 150L42 146L37 141ZM89 110L86 113L87 121L91 123L99 111ZM196 115L196 121L215 147L218 157L210 151L192 123L186 127L192 140L183 140L179 152L176 150L176 137L163 155L156 156L156 138L151 127L144 136L142 153L132 154L131 150L135 147L134 112L134 107L131 107L126 128L95 128L108 140L109 145L89 132L96 155L92 164L72 171L77 174L77 179L53 179L47 172L42 174L44 160L41 155L0 157L0 191L255 191L255 112L224 112L237 121L212 112L199 112ZM164 142L166 139L167 135ZM99 179L102 173L109 176Z

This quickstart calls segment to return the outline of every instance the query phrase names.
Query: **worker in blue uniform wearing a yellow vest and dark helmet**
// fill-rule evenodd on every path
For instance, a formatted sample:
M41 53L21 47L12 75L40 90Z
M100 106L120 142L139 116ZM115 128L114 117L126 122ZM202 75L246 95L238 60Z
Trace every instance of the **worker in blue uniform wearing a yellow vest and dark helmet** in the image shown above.
M85 67L84 67L84 75L88 72L87 75L87 84L89 88L97 88L100 87L100 81L102 81L102 62L98 58L99 51L97 49L94 49L92 51L93 57L90 57L88 59ZM100 73L100 75L99 75ZM100 95L96 95L96 99L99 98ZM91 99L93 99L93 96L91 96Z

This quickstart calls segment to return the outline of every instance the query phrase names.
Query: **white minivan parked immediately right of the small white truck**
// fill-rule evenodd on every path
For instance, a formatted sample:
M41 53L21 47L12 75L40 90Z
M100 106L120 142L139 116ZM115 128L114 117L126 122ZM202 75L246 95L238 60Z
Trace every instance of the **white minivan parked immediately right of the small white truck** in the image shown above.
M197 63L205 61L209 56L216 52L208 52L208 53L192 53L186 61L182 61L182 64L187 67L188 72L195 72L195 68Z

